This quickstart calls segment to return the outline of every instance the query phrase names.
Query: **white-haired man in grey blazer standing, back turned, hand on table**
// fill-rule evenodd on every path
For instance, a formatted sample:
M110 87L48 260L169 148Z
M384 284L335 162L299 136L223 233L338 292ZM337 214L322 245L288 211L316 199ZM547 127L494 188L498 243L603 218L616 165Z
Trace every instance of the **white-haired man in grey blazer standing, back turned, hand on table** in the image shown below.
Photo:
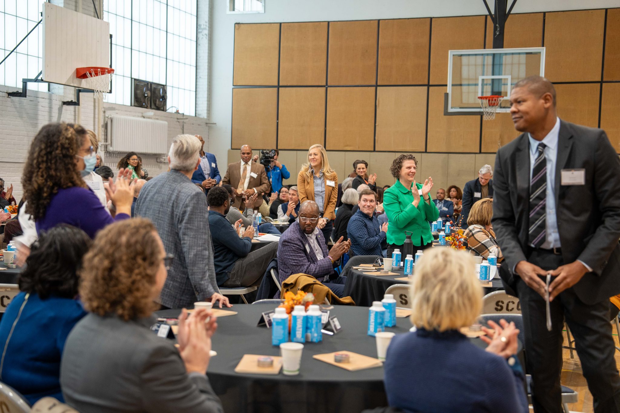
M200 147L193 135L176 136L168 153L170 172L144 184L136 202L136 216L153 221L166 253L174 256L159 297L162 308L206 300L230 306L215 279L206 197L192 182Z

